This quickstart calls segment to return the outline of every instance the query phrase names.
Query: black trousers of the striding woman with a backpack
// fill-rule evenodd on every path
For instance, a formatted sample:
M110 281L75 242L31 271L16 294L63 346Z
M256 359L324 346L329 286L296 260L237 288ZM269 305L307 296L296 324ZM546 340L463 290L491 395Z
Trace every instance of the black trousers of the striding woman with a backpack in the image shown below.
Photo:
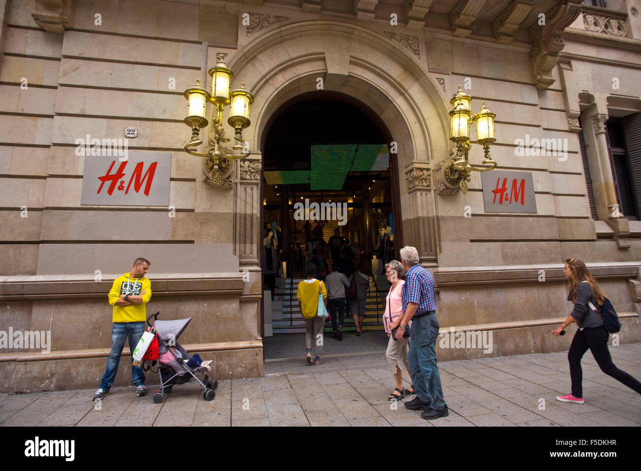
M597 361L601 371L641 394L641 383L628 373L619 370L612 363L612 357L608 350L608 337L608 331L604 327L585 327L583 330L577 330L576 334L574 334L570 351L567 352L567 359L570 361L572 395L574 397L583 397L581 358L588 349L594 355L594 359Z

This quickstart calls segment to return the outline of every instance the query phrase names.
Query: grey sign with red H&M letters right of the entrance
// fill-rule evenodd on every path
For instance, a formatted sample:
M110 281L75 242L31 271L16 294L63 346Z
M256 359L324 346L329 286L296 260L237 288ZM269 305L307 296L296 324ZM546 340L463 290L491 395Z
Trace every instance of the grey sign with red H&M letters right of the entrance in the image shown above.
M481 185L486 213L537 212L531 172L483 172Z

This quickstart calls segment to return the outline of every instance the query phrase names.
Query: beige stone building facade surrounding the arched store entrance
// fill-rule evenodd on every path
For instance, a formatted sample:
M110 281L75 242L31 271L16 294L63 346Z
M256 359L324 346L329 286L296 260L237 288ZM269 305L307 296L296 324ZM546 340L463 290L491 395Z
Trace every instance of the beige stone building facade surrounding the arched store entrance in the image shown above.
M566 349L567 337L550 332L569 312L563 260L578 257L620 311L620 342L640 341L640 215L620 211L607 135L609 119L641 110L639 8L637 0L605 8L572 0L0 1L0 329L51 331L51 352L0 351L0 390L97 384L110 348L106 293L138 256L151 261L148 313L192 317L183 343L212 356L213 376L262 376L263 133L281 105L318 90L318 78L369 108L397 143L403 243L435 275L443 328L491 330L492 355ZM183 151L183 90L196 79L210 89L207 70L219 53L228 54L232 88L243 81L254 102L243 135L251 155L214 187L202 159ZM497 170L531 174L536 213L486 213L479 172L467 194L445 181L458 85L473 110L485 101L496 113L492 158ZM171 154L169 205L81 204L78 139L124 138L128 127L137 128L131 151ZM638 207L641 144L626 137ZM517 150L535 139L560 142L565 154ZM480 146L470 160L482 160ZM482 354L441 349L439 358ZM128 375L121 368L117 384Z

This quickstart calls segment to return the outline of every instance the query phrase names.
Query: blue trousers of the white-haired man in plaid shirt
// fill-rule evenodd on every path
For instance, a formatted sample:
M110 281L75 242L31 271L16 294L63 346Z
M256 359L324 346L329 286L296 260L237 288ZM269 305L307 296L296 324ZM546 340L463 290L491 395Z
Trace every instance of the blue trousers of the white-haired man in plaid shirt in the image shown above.
M438 327L436 311L412 320L407 359L417 397L422 402L431 402L432 409L441 410L445 401L437 367Z

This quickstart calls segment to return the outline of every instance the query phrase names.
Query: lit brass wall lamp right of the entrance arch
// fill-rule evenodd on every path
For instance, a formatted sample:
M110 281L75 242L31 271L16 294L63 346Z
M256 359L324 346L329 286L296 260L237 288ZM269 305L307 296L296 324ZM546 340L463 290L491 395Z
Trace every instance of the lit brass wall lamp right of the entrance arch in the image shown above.
M456 143L456 155L444 165L444 176L451 185L460 185L463 194L467 194L467 182L470 181L472 172L488 172L496 168L497 163L490 157L490 144L496 139L494 137L494 113L485 108L485 101L481 103L474 118L472 117L472 97L461 90L458 86L458 93L449 101L452 111L449 112L449 135L450 140ZM485 160L483 165L489 167L478 167L470 165L467 155L472 147L470 144L470 121L474 121L476 128L476 142L483 144Z

